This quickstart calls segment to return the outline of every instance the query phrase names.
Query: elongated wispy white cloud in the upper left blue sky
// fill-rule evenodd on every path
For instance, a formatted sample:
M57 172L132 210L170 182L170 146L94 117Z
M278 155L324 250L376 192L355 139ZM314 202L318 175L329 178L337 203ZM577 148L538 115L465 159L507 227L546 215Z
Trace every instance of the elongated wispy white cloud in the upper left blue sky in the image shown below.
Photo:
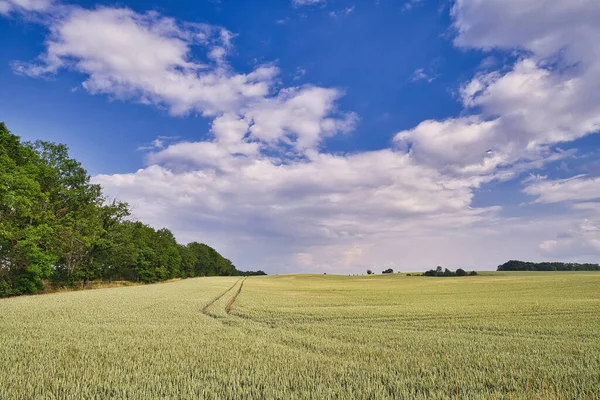
M69 68L87 75L83 87L90 93L166 105L173 114L237 110L267 95L278 73L268 65L233 73L222 65L230 32L178 24L156 13L74 8L50 28L41 62L15 63L17 73L40 76ZM191 45L205 46L207 60L191 61Z

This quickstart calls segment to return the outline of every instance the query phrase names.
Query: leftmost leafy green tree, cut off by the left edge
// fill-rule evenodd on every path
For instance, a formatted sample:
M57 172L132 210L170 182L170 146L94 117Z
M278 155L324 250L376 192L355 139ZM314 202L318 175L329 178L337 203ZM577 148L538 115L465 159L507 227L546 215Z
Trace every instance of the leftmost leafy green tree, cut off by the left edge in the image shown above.
M0 296L42 289L57 259L40 162L32 147L0 123Z

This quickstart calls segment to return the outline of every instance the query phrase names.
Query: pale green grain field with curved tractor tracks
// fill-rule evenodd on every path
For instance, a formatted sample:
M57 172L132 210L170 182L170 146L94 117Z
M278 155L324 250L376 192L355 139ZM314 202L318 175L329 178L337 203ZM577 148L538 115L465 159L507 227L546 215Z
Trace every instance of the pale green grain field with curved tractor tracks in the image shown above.
M0 399L448 397L600 398L600 273L196 278L0 300Z

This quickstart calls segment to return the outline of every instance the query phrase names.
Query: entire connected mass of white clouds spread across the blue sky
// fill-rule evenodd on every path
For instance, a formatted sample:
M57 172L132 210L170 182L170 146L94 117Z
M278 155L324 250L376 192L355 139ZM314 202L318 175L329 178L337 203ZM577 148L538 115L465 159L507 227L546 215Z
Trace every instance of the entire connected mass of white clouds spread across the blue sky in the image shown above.
M562 234L569 215L507 218L473 199L485 183L572 155L558 145L600 129L598 4L457 0L455 44L516 51L517 62L466 82L461 116L423 121L378 151L327 152L328 138L359 122L339 108L343 91L282 87L272 64L235 71L227 62L235 35L221 27L71 7L52 19L39 60L13 67L30 76L68 69L92 94L207 117L207 140L154 143L144 168L94 181L144 221L206 240L244 268L481 268L566 254L577 237L588 250L574 256L595 246L589 230ZM537 203L575 203L582 221L599 193L583 176L524 185Z

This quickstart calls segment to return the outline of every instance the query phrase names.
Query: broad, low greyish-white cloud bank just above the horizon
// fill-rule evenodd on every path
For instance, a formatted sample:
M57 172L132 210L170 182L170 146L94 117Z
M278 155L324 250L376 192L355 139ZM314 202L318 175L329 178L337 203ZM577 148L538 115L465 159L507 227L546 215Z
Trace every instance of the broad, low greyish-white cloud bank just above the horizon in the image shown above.
M270 271L293 267L296 253L311 255L295 265L304 271L357 271L379 259L425 267L449 251L440 237L469 230L498 211L472 209L467 182L449 180L390 150L313 151L285 164L219 151L216 143L172 145L152 155L153 165L145 169L100 175L95 182L134 205L142 220L167 224L181 238L210 238L240 265ZM172 162L185 170L169 167ZM410 258L390 252L407 250L415 241L437 247L421 259L412 250ZM307 260L314 264L305 265Z

